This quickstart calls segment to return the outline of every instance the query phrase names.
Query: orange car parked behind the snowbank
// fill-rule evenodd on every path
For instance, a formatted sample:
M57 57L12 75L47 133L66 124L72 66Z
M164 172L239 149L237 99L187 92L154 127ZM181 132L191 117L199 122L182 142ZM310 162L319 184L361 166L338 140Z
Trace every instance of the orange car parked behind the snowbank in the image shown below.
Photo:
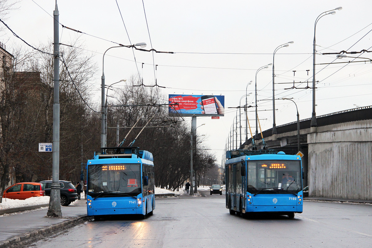
M16 183L4 190L3 198L25 200L33 196L44 196L40 183Z

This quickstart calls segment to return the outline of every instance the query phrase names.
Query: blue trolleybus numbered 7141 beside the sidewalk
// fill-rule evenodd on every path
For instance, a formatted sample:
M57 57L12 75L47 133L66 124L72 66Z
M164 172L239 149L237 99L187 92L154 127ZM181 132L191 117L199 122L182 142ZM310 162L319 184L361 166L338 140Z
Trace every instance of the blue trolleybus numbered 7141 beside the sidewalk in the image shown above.
M87 215L137 214L155 209L154 162L138 147L102 148L87 162Z

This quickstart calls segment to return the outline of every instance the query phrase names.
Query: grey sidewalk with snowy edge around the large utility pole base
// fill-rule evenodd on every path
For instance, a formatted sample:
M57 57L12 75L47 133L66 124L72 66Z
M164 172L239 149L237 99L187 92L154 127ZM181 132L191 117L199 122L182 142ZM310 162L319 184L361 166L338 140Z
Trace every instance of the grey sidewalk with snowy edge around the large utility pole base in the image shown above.
M13 210L19 211L19 208ZM47 212L48 207L42 207L32 211L1 215L0 248L77 222L87 214L86 200L76 200L70 206L61 206L62 218L44 218Z

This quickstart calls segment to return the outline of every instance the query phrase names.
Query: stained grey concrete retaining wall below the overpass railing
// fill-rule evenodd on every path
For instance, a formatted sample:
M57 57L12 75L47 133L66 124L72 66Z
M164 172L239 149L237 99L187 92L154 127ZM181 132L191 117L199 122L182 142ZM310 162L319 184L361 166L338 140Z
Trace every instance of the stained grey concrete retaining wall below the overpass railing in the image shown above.
M371 120L308 134L309 196L372 200Z

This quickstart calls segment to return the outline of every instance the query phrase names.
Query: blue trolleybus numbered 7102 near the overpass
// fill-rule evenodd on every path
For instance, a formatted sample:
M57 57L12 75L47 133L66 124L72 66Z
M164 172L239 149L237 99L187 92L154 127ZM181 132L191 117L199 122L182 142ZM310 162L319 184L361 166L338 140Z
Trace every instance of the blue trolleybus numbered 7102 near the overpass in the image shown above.
M226 208L242 216L302 213L301 157L273 150L227 151Z

